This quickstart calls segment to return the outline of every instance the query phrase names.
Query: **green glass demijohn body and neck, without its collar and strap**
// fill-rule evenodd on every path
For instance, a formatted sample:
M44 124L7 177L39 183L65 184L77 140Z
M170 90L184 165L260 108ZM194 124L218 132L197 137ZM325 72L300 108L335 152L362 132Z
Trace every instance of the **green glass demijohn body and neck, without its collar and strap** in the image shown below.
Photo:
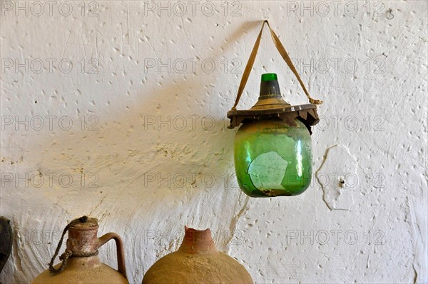
M277 75L266 73L258 103L251 108L258 116L245 118L235 136L236 178L248 196L296 196L310 186L310 131L298 118L260 115L275 108L291 111L282 99Z

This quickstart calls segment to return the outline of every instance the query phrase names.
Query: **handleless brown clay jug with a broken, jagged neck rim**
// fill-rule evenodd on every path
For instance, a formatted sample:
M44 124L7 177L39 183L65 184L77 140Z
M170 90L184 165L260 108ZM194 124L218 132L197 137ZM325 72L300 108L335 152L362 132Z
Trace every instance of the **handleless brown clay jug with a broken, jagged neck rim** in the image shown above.
M143 284L254 283L247 270L215 248L210 229L185 227L183 243L149 268Z

